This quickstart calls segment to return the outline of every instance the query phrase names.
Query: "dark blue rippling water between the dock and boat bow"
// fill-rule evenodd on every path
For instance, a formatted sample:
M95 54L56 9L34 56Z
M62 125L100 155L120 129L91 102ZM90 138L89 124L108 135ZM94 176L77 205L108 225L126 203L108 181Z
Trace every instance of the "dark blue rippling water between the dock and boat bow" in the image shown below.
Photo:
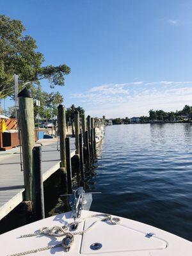
M192 241L191 135L190 124L108 126L97 161L83 181L74 178L74 188L83 182L86 191L102 192L93 195L92 211L131 218ZM49 214L67 209L59 195Z

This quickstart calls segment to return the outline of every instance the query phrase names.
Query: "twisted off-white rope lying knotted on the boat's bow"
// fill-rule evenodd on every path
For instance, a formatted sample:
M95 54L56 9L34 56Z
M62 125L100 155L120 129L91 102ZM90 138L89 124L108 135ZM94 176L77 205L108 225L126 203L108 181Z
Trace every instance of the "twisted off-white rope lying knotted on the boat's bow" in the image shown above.
M99 220L96 220L95 222L92 223L92 225L90 225L90 227L86 228L85 230L81 230L81 231L77 231L77 232L68 232L68 227L70 227L70 225L74 224L73 223L68 223L67 225L60 227L60 226L54 226L54 227L42 227L40 228L40 230L38 230L35 233L31 233L31 234L24 234L21 235L20 237L31 237L31 236L38 236L40 234L44 234L46 236L54 236L54 237L61 237L61 236L65 236L65 238L62 240L62 242L60 244L56 244L56 245L48 245L42 248L38 248L38 249L34 249L34 250L30 250L30 251L26 251L26 252L20 252L20 253L15 253L15 254L11 254L11 255L7 255L7 256L22 256L22 255L28 255L29 253L36 253L36 252L41 252L44 250L49 250L52 248L56 248L58 246L63 246L63 248L65 248L68 252L70 246L72 245L72 243L74 242L74 236L77 235L83 235L84 233L86 233L88 230L90 230L91 228L95 227L95 225L97 223L99 223L100 221L110 221L111 224L116 225L118 223L120 223L120 218L112 218L111 215L109 214L92 214L90 216L88 216L87 218L81 219L81 221L76 221L77 224L87 220L88 218L95 218L95 217L103 217ZM70 239L70 244L66 243L66 238Z

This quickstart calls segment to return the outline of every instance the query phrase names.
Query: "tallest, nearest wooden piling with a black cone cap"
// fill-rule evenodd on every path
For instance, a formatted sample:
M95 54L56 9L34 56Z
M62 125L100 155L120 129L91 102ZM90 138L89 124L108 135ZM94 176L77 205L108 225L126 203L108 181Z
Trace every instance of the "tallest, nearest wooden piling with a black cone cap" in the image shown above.
M19 124L22 138L25 200L33 202L33 147L35 146L33 97L26 88L24 88L18 94L18 97Z

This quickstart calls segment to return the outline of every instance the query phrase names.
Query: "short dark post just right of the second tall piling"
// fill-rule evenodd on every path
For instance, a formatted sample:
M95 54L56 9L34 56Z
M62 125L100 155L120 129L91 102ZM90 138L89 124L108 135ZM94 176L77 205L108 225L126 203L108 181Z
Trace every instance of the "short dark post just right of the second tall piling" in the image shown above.
M70 158L70 137L65 138L65 143L66 143L68 193L71 193L72 192L72 167L71 167L71 158Z

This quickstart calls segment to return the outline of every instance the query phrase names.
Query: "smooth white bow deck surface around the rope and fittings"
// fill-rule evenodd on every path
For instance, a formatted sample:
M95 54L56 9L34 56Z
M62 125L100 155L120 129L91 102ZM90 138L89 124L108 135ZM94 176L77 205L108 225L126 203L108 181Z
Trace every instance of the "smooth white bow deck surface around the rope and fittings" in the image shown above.
M120 218L120 223L112 225L110 221L101 220L102 216L96 216L98 212L82 211L77 230L89 230L83 235L74 236L74 243L69 252L60 246L63 237L51 237L38 235L20 238L24 234L33 234L42 227L53 227L55 225L63 227L67 223L72 223L71 212L59 214L44 220L36 221L29 225L16 228L0 236L1 256L13 255L29 250L35 250L47 245L58 247L42 252L27 255L47 256L47 255L103 255L103 256L191 256L192 243L177 237L173 234L160 230L138 221ZM114 217L114 216L113 216ZM97 223L95 223L97 221ZM93 224L94 223L94 224ZM99 243L99 250L92 250L92 244Z

